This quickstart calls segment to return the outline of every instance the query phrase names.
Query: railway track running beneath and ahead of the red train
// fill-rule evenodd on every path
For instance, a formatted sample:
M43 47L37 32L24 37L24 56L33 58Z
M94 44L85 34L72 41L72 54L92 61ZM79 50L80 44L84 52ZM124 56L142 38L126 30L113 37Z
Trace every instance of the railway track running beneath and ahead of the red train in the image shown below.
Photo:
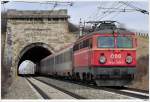
M68 83L73 83L73 84L77 84L77 85L81 85L81 86L86 86L86 87L93 88L93 89L96 89L96 90L104 90L104 91L107 91L107 92L121 94L121 95L129 96L129 97L133 97L133 98L137 98L137 99L149 99L149 92L146 91L146 90L139 90L139 89L128 88L128 87L122 87L122 88L99 87L99 86L95 86L93 84L88 84L88 83L83 83L83 82L62 80L62 79L56 79L56 78L53 78L53 79L60 80L60 81L65 81L65 82L68 82Z

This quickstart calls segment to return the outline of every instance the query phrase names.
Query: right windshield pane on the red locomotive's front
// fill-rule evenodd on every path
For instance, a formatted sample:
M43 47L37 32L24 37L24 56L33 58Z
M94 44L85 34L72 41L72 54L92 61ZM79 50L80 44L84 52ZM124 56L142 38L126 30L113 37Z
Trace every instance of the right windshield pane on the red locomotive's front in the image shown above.
M117 37L117 48L132 48L131 37Z

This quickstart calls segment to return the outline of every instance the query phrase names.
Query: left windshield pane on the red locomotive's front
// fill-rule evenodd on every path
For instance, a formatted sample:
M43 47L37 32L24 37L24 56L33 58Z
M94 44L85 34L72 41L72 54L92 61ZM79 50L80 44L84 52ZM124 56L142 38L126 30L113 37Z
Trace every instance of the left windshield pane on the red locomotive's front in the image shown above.
M98 37L99 48L114 48L114 37Z

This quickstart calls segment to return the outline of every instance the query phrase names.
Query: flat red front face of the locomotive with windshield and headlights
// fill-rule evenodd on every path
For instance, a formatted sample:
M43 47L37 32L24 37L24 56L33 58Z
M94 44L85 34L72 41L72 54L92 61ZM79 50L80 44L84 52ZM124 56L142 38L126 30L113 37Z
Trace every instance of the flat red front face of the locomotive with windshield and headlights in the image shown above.
M136 72L136 38L133 33L95 34L91 66L100 86L124 86Z

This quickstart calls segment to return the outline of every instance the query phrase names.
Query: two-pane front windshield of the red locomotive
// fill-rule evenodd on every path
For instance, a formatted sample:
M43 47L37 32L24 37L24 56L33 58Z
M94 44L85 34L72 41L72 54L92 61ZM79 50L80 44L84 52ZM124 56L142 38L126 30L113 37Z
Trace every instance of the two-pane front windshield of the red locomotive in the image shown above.
M116 39L116 44L115 44ZM101 36L98 37L98 48L132 48L132 38L127 36Z

